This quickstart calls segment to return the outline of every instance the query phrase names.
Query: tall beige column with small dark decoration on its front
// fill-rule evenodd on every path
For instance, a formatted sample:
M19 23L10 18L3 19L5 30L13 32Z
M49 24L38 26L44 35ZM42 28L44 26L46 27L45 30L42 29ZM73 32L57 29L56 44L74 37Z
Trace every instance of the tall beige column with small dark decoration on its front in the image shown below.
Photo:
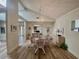
M7 52L11 53L18 47L18 0L7 0Z

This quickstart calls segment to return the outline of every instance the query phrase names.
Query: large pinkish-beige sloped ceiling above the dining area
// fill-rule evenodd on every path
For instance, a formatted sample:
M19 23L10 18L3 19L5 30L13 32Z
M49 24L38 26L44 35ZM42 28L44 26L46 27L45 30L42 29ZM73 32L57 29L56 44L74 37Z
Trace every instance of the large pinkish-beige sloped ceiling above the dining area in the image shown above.
M45 20L55 20L62 15L79 7L79 0L21 0L23 5L29 10L27 11L27 19L35 20L40 13ZM24 12L24 11L22 11ZM25 12L24 12L25 13ZM38 14L36 14L38 13ZM29 14L29 15L28 15ZM33 18L35 17L35 18ZM46 18L47 17L47 18Z

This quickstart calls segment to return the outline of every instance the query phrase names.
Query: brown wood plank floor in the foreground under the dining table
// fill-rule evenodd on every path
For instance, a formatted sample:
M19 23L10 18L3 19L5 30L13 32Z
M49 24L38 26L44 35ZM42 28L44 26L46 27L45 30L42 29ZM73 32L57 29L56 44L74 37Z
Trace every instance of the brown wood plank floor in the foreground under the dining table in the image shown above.
M10 54L9 59L77 59L70 52L55 46L46 47L45 50L45 55L41 50L35 55L33 48L21 47L14 53Z

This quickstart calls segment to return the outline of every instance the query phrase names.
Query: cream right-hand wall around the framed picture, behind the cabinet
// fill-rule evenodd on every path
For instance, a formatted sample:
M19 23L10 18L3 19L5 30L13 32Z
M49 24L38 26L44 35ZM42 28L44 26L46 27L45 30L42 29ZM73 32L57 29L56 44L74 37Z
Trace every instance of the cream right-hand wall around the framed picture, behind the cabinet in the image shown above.
M79 19L79 8L58 18L53 33L56 34L55 31L58 28L64 28L64 36L66 37L68 49L79 58L79 32L71 31L71 22L76 19Z

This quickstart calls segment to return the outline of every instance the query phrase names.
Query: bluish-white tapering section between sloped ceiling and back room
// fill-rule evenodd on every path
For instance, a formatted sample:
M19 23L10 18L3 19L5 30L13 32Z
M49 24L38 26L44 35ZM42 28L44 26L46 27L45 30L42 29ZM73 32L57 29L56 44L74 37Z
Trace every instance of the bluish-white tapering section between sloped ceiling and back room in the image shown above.
M19 6L19 16L21 19L26 20L26 21L53 21L52 18L49 18L46 15L41 15L39 14L39 12L33 11L31 9L24 9L24 6L22 6L20 3L18 3ZM37 17L40 16L40 19L37 19Z

